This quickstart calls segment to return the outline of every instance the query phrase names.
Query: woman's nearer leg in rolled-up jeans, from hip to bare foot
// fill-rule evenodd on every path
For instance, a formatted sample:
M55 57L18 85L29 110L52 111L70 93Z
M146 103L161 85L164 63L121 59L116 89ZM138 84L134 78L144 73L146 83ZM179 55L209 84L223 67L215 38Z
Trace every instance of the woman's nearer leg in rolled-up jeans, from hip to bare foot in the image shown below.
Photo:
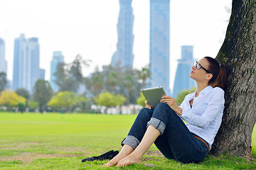
M181 118L168 104L159 103L147 124L148 128L142 142L134 152L120 160L117 166L141 162L142 155L153 142L168 159L176 159L183 163L197 163L206 157L208 152L206 145L193 137Z

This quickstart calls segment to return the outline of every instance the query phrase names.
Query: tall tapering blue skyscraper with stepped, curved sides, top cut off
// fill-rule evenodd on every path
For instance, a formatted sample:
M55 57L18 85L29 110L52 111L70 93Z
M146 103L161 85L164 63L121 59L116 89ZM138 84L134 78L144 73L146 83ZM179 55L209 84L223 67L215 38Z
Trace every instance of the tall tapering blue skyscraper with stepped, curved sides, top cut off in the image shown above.
M117 51L112 56L111 65L132 69L134 55L132 53L134 35L132 33L134 15L132 0L119 0L119 17L117 23Z

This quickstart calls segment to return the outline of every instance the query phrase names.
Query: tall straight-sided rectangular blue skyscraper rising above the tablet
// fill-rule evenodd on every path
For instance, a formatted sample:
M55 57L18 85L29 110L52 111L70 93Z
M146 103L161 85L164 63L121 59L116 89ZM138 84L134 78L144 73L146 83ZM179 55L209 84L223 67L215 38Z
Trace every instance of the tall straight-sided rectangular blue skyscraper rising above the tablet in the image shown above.
M151 86L169 90L170 0L150 0L149 70Z

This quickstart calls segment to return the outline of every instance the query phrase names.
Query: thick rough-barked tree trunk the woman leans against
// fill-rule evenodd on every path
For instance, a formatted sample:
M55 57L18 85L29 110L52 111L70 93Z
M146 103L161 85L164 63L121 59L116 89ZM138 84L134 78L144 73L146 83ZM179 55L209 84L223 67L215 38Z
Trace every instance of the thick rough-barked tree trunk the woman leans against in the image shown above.
M218 56L228 66L225 110L211 154L252 158L256 120L256 2L233 0L227 33Z

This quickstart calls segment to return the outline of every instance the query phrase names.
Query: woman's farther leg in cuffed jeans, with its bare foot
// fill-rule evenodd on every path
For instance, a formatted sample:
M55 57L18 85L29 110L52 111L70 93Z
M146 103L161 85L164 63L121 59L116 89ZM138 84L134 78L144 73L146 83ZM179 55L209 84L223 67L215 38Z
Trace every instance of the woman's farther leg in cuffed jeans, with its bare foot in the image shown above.
M146 123L149 122L152 114L153 111L151 109L142 108L142 110L137 115L136 120L134 120L132 128L129 130L127 137L124 138L124 140L122 141L123 147L119 154L117 154L116 157L114 157L110 162L104 164L103 166L116 165L117 162L119 162L119 160L123 159L124 157L127 157L134 151L135 148L137 148L139 143L142 141L142 137L146 132Z

